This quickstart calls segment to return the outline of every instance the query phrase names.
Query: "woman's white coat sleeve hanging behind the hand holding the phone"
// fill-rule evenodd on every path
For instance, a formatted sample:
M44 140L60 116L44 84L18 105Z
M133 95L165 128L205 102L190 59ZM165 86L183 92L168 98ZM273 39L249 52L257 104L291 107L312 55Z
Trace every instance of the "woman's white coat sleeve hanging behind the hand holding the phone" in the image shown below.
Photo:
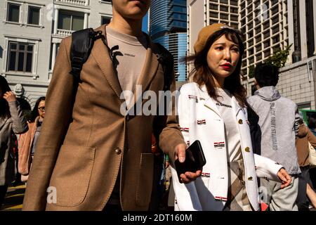
M188 98L187 86L180 89L178 97L178 120L185 142L190 140L190 101ZM189 128L189 131L187 131ZM180 211L200 211L202 206L199 203L199 195L195 188L195 181L190 184L181 184L174 165L171 165L171 174L173 177L173 188L176 195L176 206Z

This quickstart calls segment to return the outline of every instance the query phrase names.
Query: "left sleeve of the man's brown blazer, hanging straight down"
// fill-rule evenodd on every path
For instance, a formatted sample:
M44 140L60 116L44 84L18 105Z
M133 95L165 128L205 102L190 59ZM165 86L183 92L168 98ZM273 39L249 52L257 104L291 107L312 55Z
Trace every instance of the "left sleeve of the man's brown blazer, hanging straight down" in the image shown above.
M27 181L23 210L45 210L46 190L70 124L74 81L70 75L71 38L63 39L46 96L46 116Z

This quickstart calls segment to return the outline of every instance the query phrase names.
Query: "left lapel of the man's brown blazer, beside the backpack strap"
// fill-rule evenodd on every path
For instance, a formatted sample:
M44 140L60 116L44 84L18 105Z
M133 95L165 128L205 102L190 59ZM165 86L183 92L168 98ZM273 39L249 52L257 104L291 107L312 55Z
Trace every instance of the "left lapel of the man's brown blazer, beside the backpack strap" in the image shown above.
M105 35L105 25L98 27L96 31L98 30L101 30L103 32L103 35ZM120 98L122 90L121 85L119 84L119 78L117 77L117 74L114 70L112 60L110 58L110 53L101 39L96 40L96 42L94 43L91 55L93 56L93 58L95 58L98 66L103 72L103 75L105 75L107 82L109 82L113 91L117 94L117 97ZM124 99L122 99L121 101L124 101Z

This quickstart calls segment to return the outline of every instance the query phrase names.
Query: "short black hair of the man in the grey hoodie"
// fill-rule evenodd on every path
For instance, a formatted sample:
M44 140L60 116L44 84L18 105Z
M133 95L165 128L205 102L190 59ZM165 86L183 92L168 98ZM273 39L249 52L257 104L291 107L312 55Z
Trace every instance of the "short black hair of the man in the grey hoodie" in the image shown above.
M258 63L254 70L254 77L260 87L277 86L279 81L279 68L270 63Z

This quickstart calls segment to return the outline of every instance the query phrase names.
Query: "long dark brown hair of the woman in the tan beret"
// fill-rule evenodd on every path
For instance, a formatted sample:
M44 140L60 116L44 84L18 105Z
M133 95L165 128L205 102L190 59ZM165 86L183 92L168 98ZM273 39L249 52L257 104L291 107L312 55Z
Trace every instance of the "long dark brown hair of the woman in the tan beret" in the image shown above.
M190 72L189 77L192 77L193 81L202 86L206 85L207 92L211 98L217 99L218 94L216 92L216 84L213 79L212 72L207 64L207 53L211 48L211 45L218 40L220 37L225 35L225 37L238 44L239 46L239 60L235 71L229 76L225 78L224 89L228 89L232 96L235 96L239 105L245 106L246 104L246 89L242 86L240 82L240 70L242 68L242 55L244 54L244 44L242 43L241 36L242 34L237 30L232 29L222 29L218 32L214 32L211 37L206 41L204 49L199 51L195 55L185 57L185 61L187 63L194 63L195 69Z

